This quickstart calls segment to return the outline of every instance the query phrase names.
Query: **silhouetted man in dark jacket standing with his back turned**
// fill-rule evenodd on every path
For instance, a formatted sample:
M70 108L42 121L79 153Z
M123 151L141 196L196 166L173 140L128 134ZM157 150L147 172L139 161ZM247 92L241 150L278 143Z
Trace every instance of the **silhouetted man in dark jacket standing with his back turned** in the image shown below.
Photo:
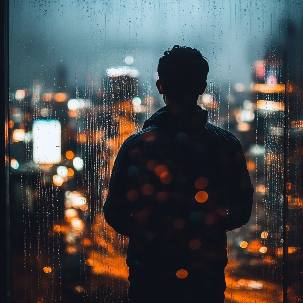
M165 107L123 143L105 219L129 237L131 303L224 302L226 231L246 224L253 186L238 139L197 105L209 66L175 45L158 64Z

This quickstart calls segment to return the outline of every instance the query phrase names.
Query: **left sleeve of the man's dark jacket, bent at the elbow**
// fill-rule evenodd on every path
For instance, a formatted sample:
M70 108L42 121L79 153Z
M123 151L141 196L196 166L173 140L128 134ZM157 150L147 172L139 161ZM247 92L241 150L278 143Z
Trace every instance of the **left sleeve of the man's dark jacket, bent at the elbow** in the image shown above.
M132 226L132 204L127 199L129 159L125 144L120 148L112 169L108 195L103 206L106 222L119 234L129 236Z

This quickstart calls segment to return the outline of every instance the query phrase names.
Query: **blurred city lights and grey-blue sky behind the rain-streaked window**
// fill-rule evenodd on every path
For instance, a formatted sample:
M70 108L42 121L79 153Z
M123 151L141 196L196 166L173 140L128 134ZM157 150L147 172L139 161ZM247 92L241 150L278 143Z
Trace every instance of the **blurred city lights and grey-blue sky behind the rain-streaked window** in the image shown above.
M227 233L225 302L286 302L285 184L287 302L301 302L302 5L288 18L287 1L9 5L12 302L128 302L128 238L102 207L122 143L165 105L157 65L175 44L208 59L198 105L239 139L255 188L250 221Z

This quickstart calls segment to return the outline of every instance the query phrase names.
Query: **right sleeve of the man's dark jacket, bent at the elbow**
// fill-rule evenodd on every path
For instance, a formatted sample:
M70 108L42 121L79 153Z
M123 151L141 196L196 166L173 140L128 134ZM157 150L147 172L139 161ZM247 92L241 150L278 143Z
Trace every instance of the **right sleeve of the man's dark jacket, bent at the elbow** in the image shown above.
M251 216L254 188L246 166L246 159L237 139L231 155L227 180L227 231L245 225Z

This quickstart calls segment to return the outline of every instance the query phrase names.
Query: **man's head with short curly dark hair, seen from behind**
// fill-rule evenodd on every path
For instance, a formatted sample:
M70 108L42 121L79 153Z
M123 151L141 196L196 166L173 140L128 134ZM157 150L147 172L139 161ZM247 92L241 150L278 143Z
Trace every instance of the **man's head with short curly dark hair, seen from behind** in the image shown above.
M156 83L159 93L165 95L165 104L196 104L205 91L208 70L205 57L196 48L175 45L165 51L159 60Z

